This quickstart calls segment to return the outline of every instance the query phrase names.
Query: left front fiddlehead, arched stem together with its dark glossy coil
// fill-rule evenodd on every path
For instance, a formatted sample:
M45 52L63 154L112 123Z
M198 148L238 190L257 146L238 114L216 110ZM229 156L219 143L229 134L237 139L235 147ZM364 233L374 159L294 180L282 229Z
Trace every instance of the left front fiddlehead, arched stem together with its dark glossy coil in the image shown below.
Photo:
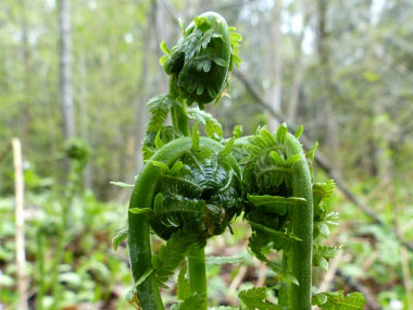
M139 174L129 204L129 253L135 281L154 268L137 287L142 305L149 299L148 292L164 285L190 245L204 245L206 238L221 234L240 213L240 170L230 148L200 137L197 126L191 138L173 140L151 157ZM149 225L167 240L153 260ZM154 307L153 298L148 302L148 307ZM157 302L161 307L161 301Z

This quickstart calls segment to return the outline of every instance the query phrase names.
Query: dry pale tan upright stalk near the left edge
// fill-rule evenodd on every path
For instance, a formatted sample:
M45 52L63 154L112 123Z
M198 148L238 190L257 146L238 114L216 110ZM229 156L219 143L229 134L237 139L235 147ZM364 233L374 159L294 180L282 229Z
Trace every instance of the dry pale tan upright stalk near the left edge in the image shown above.
M18 309L27 309L27 280L26 280L26 253L24 248L24 178L22 145L18 139L12 140L13 162L15 175L15 224L16 224L16 265L17 265L17 286L18 286Z

